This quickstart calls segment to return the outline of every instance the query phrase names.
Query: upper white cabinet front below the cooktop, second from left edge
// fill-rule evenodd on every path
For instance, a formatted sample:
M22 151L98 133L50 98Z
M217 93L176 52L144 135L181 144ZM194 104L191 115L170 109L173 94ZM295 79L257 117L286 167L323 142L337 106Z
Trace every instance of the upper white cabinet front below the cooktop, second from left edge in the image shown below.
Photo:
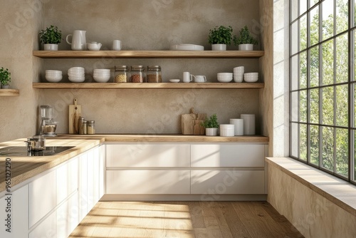
M28 224L32 227L56 207L56 170L47 172L28 184Z

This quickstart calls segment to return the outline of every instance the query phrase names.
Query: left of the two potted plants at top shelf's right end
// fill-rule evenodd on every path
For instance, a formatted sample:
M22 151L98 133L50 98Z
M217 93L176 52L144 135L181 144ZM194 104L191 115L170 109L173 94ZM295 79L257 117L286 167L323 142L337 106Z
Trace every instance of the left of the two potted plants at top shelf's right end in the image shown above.
M231 44L231 26L215 26L209 31L209 43L212 51L226 51L226 45Z

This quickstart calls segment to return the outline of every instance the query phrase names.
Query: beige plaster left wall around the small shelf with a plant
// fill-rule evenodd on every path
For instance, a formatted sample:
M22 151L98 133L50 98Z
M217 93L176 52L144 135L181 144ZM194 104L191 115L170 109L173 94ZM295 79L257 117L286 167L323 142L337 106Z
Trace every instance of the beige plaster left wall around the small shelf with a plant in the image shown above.
M38 92L32 82L41 61L32 51L38 48L43 9L38 0L0 2L0 67L9 68L10 86L20 90L18 97L0 97L0 141L6 141L36 134Z

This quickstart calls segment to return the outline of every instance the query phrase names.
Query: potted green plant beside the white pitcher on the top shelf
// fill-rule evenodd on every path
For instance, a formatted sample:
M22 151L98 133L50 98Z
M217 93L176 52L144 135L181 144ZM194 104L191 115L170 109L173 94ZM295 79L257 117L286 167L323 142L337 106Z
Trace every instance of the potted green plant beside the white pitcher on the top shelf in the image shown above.
M58 51L58 43L62 40L62 31L57 26L47 27L39 33L40 41L43 43L45 51Z

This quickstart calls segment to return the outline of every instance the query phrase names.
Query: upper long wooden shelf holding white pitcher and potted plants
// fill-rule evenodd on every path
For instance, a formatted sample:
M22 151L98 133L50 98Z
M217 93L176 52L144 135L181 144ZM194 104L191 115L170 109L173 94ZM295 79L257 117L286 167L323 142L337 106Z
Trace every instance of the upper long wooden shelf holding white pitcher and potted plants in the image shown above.
M264 51L33 51L39 58L260 58Z

